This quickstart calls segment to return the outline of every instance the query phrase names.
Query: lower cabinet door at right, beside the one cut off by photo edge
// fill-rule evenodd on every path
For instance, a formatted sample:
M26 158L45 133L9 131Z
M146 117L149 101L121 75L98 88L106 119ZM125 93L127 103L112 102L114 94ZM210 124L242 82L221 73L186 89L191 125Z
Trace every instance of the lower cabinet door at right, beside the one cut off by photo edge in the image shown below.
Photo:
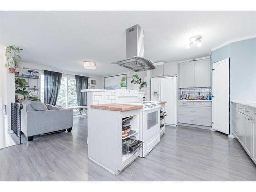
M252 128L253 128L253 121L252 118L249 116L245 115L245 137L244 137L244 148L246 152L251 155L252 153Z

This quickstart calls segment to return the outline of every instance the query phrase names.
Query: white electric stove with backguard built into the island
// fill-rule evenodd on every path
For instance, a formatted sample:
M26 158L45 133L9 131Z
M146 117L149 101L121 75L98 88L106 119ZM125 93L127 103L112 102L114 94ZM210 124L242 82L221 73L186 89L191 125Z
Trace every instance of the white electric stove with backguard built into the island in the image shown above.
M145 157L160 142L160 102L141 101L138 91L116 89L116 103L143 105L140 112L140 140Z

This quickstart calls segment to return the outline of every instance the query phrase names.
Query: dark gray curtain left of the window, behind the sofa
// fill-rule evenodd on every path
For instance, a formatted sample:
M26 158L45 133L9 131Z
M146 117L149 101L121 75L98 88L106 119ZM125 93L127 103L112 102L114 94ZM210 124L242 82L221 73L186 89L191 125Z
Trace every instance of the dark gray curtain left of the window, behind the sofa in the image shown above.
M44 70L44 102L56 105L62 73Z

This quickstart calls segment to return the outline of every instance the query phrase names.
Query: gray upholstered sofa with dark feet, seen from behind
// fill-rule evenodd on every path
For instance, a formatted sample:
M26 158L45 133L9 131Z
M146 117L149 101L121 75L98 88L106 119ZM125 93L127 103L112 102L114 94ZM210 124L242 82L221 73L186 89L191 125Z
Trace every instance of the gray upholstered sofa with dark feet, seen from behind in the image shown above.
M73 127L73 110L61 109L56 106L45 105L40 101L27 101L22 109L22 132L28 141L34 135L67 129Z

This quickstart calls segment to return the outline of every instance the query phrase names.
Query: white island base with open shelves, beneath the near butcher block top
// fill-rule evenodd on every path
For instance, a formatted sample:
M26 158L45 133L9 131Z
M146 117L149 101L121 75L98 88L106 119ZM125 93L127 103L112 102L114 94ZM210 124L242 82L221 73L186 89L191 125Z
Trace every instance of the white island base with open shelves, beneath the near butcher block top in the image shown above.
M142 155L142 148L135 154L122 153L122 118L132 116L133 136L140 139L140 109L130 111L111 111L90 108L88 115L88 157L93 162L113 174Z

